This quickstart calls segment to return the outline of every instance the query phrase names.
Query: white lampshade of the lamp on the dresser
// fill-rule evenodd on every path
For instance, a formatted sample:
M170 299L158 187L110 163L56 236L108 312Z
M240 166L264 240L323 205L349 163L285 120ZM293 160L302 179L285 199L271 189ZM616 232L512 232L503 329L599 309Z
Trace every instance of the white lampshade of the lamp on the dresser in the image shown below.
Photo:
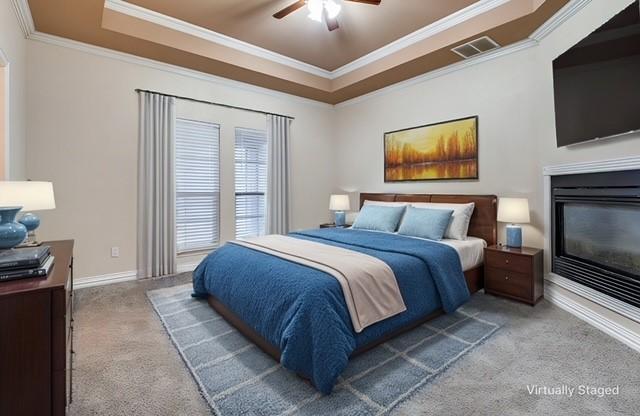
M22 207L23 211L54 209L56 201L51 182L2 181L0 207Z

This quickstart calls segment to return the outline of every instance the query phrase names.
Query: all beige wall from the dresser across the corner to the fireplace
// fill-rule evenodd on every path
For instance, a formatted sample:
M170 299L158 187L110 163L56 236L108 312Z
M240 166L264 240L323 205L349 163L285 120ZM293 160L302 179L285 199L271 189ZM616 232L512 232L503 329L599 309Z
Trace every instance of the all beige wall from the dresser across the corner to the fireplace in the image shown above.
M335 109L30 41L27 169L33 179L54 182L58 203L55 211L42 213L40 237L75 238L80 277L135 269L133 90L148 88L295 116L294 228L329 219L331 191L495 193L529 198L532 224L525 227L525 244L542 247L543 166L638 153L637 138L555 147L551 60L629 1L591 2L538 47ZM262 117L184 103L179 111L222 125L222 188L223 195L232 195L232 132L259 125ZM383 182L385 131L469 115L479 116L478 181ZM227 197L221 206L223 241L234 234L232 213L233 198ZM120 247L119 258L110 257L113 246Z

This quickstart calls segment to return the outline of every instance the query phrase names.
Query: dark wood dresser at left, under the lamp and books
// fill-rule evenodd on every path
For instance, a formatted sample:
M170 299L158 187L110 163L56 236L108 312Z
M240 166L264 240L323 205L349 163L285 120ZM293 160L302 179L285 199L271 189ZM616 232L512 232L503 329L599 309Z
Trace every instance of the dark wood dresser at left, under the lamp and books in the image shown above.
M73 240L45 242L46 278L0 283L0 415L64 415L71 403Z

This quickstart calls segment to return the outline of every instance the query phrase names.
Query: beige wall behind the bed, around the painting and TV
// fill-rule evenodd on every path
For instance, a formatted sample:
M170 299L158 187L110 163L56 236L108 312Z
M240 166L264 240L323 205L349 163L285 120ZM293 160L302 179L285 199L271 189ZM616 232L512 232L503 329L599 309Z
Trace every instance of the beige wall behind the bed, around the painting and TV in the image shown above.
M335 190L526 197L532 223L524 242L543 247L543 166L640 154L637 135L561 149L555 143L551 61L630 2L591 2L539 46L337 106ZM385 131L470 115L479 116L478 181L384 183Z

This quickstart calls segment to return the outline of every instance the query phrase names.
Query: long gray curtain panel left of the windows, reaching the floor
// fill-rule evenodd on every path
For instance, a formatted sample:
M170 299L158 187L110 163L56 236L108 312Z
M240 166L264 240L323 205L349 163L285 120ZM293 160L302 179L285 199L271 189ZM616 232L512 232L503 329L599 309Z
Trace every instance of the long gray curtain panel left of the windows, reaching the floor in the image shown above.
M176 273L175 99L140 92L138 278Z

